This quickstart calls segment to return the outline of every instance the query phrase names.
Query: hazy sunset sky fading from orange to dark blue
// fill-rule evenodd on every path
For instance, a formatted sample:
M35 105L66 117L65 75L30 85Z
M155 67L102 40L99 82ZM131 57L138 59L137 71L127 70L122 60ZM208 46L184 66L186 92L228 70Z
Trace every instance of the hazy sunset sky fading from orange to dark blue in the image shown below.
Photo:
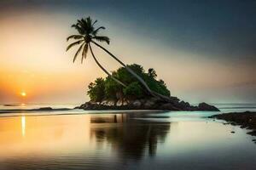
M0 103L84 103L105 74L90 54L73 64L71 25L105 26L102 44L126 64L153 67L173 96L198 103L256 103L256 1L2 0ZM108 71L119 67L93 47ZM20 95L26 93L26 97Z

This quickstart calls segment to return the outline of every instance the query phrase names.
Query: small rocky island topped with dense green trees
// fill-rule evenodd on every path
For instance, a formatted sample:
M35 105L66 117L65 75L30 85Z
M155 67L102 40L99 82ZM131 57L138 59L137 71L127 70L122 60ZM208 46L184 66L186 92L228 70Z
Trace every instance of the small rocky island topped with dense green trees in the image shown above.
M147 82L150 89L168 97L168 100L148 94L136 77L131 76L124 67L120 67L117 71L112 72L112 77L100 77L96 78L95 82L90 82L87 92L90 96L90 101L80 105L77 109L219 111L213 105L207 105L206 103L201 103L197 106L190 105L188 102L171 96L170 90L166 88L166 83L161 79L157 79L156 72L152 68L146 72L141 65L133 64L128 66ZM115 79L118 79L123 85Z

